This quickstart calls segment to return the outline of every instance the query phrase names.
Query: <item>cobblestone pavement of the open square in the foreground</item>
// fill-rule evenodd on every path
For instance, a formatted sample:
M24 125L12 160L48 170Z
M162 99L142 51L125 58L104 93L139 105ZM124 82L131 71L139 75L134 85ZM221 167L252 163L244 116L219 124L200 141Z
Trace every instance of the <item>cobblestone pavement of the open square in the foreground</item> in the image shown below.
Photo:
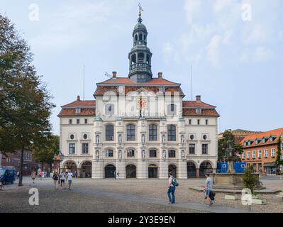
M262 179L266 187L283 189L283 180ZM216 205L205 208L204 194L189 190L204 179L180 179L176 204L167 204L166 179L74 179L72 190L55 190L52 179L23 179L23 187L6 185L0 191L0 212L245 212L241 201L226 201L216 194ZM39 190L39 206L28 204L28 190ZM263 195L267 205L253 205L256 212L283 212L283 201L274 194Z

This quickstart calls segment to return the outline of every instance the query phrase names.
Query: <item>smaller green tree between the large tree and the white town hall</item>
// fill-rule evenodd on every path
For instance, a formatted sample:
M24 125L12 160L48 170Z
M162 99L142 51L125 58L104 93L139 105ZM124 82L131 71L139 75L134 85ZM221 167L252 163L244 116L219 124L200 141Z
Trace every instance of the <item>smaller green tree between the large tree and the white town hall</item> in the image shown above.
M40 162L41 166L43 163L51 165L53 162L54 155L59 153L59 136L50 135L45 144L40 144L39 146L34 146L33 148L33 158L35 162Z

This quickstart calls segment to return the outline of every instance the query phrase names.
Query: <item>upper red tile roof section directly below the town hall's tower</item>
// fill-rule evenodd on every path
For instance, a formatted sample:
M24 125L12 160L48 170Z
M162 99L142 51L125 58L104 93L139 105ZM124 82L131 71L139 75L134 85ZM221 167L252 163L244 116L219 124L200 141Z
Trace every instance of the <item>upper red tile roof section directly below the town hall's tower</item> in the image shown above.
M98 84L137 84L137 85L180 85L174 82L170 82L167 79L158 79L158 78L152 78L149 82L135 82L132 79L128 78L128 77L117 77L116 79L107 79L104 82L98 83Z

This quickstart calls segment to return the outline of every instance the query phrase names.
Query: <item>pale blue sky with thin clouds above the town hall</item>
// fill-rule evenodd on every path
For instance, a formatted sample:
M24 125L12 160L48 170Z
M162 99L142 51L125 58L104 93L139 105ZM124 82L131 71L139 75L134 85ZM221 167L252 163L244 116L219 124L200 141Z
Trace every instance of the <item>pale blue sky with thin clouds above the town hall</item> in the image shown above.
M96 83L117 71L128 77L128 52L138 18L136 0L0 0L30 45L33 64L57 105L77 95L94 99ZM182 84L186 96L217 106L218 131L283 127L282 0L140 0L152 74Z

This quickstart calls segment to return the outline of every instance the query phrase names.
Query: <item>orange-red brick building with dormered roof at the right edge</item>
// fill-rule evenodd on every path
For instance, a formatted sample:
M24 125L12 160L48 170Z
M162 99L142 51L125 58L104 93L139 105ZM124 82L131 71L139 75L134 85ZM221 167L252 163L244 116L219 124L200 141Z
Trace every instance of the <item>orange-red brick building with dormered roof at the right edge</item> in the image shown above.
M283 128L246 136L240 142L244 148L241 161L253 165L256 172L275 174L277 141L282 136Z

